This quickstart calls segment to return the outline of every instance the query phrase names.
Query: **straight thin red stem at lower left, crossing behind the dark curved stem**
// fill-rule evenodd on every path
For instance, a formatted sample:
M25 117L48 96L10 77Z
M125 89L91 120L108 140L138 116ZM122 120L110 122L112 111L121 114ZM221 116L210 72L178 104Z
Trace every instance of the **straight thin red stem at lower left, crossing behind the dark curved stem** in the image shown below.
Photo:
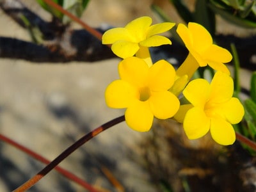
M48 159L45 159L44 157L40 156L40 154L37 154L36 152L33 152L29 148L26 148L23 145L20 145L19 143L11 140L10 138L7 138L6 136L3 136L3 134L0 134L0 140L4 141L4 142L6 142L10 145L13 145L13 147L18 148L19 150L25 152L29 156L37 159L38 161L41 161L42 163L45 163L45 164L51 163L51 161L49 161ZM56 166L55 170L57 172L61 173L63 176L67 177L68 179L73 180L77 184L83 186L85 189L88 189L89 191L95 191L95 192L98 191L97 189L93 188L90 184L88 184L84 180L80 179L79 177L77 177L73 173L70 173L67 170L61 168L60 166Z

